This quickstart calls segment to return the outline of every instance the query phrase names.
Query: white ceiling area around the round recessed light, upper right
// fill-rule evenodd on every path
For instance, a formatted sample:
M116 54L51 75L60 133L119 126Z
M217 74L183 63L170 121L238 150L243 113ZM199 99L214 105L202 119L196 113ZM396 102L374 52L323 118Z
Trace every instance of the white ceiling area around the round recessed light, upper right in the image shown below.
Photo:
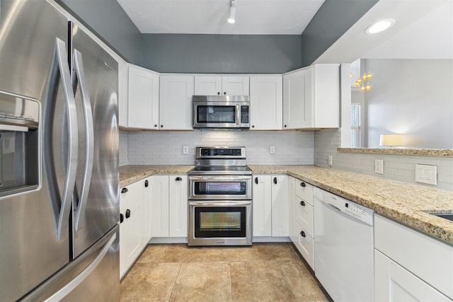
M389 30L366 35L386 18ZM380 0L314 63L355 59L453 59L453 0Z

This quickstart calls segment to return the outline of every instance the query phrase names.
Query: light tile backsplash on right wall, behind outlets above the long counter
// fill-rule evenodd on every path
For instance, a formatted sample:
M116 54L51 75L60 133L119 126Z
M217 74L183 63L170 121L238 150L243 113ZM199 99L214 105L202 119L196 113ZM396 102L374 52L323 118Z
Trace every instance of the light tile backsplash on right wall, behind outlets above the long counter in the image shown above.
M453 191L453 158L406 156L389 154L362 154L338 152L340 132L328 129L314 134L314 164L328 167L328 156L333 156L333 168L363 173L380 178L415 182L415 164L437 165L437 185L426 185ZM384 174L374 173L374 160L384 160Z

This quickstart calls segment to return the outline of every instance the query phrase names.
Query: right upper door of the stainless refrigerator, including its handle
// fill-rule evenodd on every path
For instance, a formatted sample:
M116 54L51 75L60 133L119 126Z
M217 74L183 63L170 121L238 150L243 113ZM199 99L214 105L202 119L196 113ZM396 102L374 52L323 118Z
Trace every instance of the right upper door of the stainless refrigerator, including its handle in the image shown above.
M120 220L118 69L115 59L72 25L71 75L79 126L73 199L74 259Z

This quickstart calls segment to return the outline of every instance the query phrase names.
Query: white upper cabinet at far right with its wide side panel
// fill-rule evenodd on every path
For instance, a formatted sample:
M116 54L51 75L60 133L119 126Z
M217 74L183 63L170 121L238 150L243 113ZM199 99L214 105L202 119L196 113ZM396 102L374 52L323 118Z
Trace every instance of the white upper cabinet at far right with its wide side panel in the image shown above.
M340 67L317 64L283 76L283 129L339 127Z

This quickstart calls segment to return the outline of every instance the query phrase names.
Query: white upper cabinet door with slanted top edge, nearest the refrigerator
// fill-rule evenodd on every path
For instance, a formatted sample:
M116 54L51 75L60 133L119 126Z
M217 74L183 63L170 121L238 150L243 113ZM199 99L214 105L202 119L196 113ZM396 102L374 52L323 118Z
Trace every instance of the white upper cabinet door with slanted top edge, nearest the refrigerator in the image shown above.
M159 76L129 65L127 122L131 128L159 129Z

